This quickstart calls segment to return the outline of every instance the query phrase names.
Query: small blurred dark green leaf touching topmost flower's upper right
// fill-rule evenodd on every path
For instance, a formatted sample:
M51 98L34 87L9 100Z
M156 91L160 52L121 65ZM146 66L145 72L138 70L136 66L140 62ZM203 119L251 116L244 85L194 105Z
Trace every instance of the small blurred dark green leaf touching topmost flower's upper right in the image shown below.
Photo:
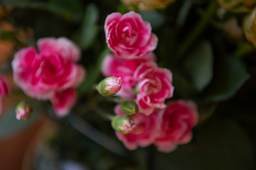
M164 16L155 10L141 11L139 13L142 15L144 21L148 21L151 24L153 29L159 28L164 23Z

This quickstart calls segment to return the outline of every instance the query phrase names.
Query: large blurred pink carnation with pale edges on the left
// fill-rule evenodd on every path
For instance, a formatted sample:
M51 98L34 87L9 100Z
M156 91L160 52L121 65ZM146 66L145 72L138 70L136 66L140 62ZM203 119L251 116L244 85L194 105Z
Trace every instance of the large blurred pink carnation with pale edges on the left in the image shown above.
M38 50L27 47L14 55L14 81L38 99L51 99L55 93L75 88L85 77L85 69L76 64L79 48L67 38L41 38Z

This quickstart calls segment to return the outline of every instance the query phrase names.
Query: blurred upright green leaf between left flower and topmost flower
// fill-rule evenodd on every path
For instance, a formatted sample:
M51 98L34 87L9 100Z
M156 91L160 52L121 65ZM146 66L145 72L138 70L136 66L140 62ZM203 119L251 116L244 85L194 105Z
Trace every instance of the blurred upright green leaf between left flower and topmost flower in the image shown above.
M94 4L89 4L85 9L85 15L82 22L82 27L74 34L75 42L86 50L97 37L98 27L97 21L99 18L99 10Z

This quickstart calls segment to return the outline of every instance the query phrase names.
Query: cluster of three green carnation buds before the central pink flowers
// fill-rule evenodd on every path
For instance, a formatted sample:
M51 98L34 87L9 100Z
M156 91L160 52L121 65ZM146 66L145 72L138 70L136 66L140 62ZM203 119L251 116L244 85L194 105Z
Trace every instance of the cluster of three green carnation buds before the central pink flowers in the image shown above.
M97 91L102 96L113 96L121 89L121 78L107 77L97 85ZM135 123L131 118L139 112L137 103L133 100L125 100L120 103L120 108L126 116L114 116L111 121L112 128L124 135L129 134L135 128Z

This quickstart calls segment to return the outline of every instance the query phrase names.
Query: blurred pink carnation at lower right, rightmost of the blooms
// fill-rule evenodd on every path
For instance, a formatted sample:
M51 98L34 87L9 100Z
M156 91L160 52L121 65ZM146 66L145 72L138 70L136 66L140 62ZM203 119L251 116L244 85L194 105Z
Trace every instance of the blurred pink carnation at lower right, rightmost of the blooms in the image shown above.
M176 145L191 141L191 128L198 123L196 103L183 100L169 102L162 119L161 132L154 145L161 152L171 152Z

